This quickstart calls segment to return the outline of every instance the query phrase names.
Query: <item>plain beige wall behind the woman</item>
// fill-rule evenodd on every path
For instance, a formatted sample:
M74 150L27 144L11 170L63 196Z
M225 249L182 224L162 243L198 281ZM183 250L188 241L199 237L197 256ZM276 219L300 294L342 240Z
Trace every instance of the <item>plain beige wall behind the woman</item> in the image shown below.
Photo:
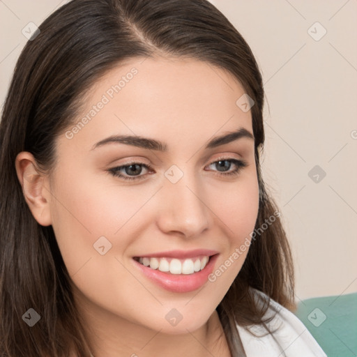
M22 29L66 2L0 0L1 108L26 43ZM357 291L357 1L211 2L263 73L263 172L294 250L296 298Z

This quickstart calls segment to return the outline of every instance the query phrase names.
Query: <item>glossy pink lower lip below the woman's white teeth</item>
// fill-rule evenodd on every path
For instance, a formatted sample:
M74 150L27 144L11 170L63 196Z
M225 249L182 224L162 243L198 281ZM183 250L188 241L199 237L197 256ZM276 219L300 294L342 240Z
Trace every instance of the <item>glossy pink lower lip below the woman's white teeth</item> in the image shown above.
M158 269L154 270L148 266L144 266L135 259L132 259L132 261L135 262L136 266L142 271L142 273L144 273L144 275L160 287L174 293L187 293L189 291L195 291L205 284L208 280L208 275L210 275L213 271L217 258L218 254L213 255L202 271L198 271L193 274L163 273Z

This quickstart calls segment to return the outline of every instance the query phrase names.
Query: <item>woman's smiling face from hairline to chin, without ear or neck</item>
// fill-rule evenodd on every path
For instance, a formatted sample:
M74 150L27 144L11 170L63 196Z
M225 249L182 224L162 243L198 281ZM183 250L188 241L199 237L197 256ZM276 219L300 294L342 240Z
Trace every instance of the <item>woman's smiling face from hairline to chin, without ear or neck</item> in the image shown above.
M93 86L57 139L51 224L79 305L102 324L187 333L222 301L258 211L244 93L202 61L132 59Z

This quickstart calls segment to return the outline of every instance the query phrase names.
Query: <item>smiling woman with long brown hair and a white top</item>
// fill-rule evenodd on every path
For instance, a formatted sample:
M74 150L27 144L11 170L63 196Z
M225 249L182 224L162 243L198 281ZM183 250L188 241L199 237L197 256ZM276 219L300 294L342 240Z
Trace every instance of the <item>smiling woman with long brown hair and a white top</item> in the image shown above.
M0 123L1 356L326 356L264 189L264 90L205 0L76 0Z

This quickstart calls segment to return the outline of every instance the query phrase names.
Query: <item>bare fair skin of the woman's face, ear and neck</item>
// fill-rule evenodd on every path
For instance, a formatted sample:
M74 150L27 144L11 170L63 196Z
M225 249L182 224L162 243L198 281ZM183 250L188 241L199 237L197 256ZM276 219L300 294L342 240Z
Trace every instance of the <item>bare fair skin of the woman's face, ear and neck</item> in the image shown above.
M132 257L207 248L220 252L218 268L253 231L259 198L254 140L204 149L209 139L238 128L252 132L251 112L236 105L245 91L229 73L202 61L131 59L93 86L75 123L133 67L137 75L84 128L72 139L56 139L52 174L40 173L31 153L17 155L24 197L38 223L54 229L94 356L230 356L215 308L248 250L215 282L188 293L151 282ZM114 134L160 140L168 149L112 143L91 150ZM219 176L212 163L222 156L248 166ZM144 167L142 180L109 174L132 160L151 165L151 174ZM164 175L172 165L183 172L177 183ZM228 172L236 168L227 166ZM93 248L100 236L112 243L105 255ZM176 326L165 319L172 308L183 317Z

